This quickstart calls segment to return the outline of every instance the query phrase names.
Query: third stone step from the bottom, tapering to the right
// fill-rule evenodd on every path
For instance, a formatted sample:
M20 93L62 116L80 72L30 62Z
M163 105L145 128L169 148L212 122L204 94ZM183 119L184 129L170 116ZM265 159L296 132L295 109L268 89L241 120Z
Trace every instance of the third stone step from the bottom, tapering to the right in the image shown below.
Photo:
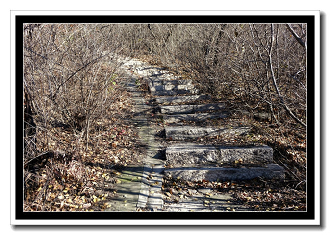
M250 127L193 127L193 126L173 126L165 128L166 139L184 141L199 137L218 136L223 134L242 135L250 130Z

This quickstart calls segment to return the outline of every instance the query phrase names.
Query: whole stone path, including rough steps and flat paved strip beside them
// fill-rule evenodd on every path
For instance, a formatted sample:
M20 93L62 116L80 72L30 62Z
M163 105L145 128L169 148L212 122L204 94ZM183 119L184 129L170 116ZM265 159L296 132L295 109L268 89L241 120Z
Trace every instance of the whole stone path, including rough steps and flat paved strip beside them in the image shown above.
M250 127L221 125L230 115L226 105L201 94L192 80L136 59L126 59L122 68L132 78L133 121L147 154L118 176L107 211L251 211L220 189L232 187L231 181L284 178L268 146L200 141L239 137Z

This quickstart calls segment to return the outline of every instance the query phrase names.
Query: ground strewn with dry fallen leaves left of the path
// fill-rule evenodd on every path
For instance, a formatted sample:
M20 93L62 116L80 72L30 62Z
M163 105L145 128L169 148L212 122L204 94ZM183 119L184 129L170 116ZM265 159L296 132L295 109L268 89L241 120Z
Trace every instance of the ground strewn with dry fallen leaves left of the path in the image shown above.
M116 176L141 162L145 150L130 121L134 103L127 91L121 91L106 113L97 122L98 131L90 133L87 148L68 126L47 130L47 140L37 131L43 154L25 163L24 211L103 211L109 206L106 199L116 194Z

